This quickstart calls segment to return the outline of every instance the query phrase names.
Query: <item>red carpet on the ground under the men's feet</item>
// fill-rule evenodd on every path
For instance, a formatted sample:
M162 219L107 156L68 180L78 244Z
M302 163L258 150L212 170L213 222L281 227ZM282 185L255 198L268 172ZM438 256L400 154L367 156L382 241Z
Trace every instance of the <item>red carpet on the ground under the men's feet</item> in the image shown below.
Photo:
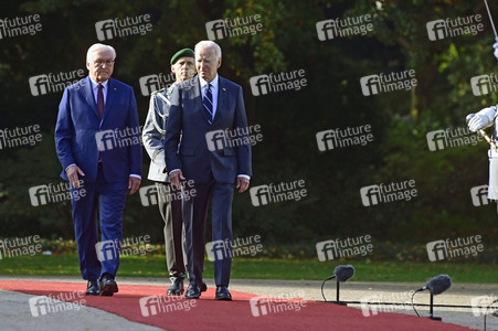
M166 286L119 285L114 297L78 297L76 293L85 287L83 282L0 281L0 289L63 298L67 302L83 299L85 306L167 330L470 330L401 313L363 317L361 309L298 299L251 305L251 298L257 296L233 290L232 302L213 300L214 289L209 288L200 300L158 303L157 298L141 298L161 296L166 300ZM166 307L168 311L163 311Z

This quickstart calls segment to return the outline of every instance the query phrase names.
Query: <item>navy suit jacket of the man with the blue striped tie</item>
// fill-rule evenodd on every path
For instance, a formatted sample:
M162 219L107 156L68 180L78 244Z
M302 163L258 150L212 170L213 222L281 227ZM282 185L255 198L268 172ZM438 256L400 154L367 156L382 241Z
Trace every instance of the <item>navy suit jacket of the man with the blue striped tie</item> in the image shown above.
M201 84L195 76L174 86L165 137L168 171L181 169L187 180L235 183L237 174L252 175L251 145L208 148L206 134L215 130L247 130L242 87L220 77L218 108L212 125L202 105ZM180 139L181 135L181 139ZM248 135L245 135L248 141Z

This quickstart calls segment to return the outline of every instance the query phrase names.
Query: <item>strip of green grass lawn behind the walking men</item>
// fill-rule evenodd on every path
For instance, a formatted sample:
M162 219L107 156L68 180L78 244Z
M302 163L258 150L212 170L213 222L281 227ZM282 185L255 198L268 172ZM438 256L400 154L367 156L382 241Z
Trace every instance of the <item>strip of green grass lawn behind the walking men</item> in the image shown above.
M319 261L318 259L236 258L232 264L232 278L324 280L338 265L351 264L356 268L352 280L358 281L415 281L425 282L439 274L448 274L454 282L496 282L497 265L465 261ZM17 256L0 259L0 275L80 276L76 254ZM120 277L167 277L163 255L124 256ZM213 263L205 260L205 278L213 278Z

